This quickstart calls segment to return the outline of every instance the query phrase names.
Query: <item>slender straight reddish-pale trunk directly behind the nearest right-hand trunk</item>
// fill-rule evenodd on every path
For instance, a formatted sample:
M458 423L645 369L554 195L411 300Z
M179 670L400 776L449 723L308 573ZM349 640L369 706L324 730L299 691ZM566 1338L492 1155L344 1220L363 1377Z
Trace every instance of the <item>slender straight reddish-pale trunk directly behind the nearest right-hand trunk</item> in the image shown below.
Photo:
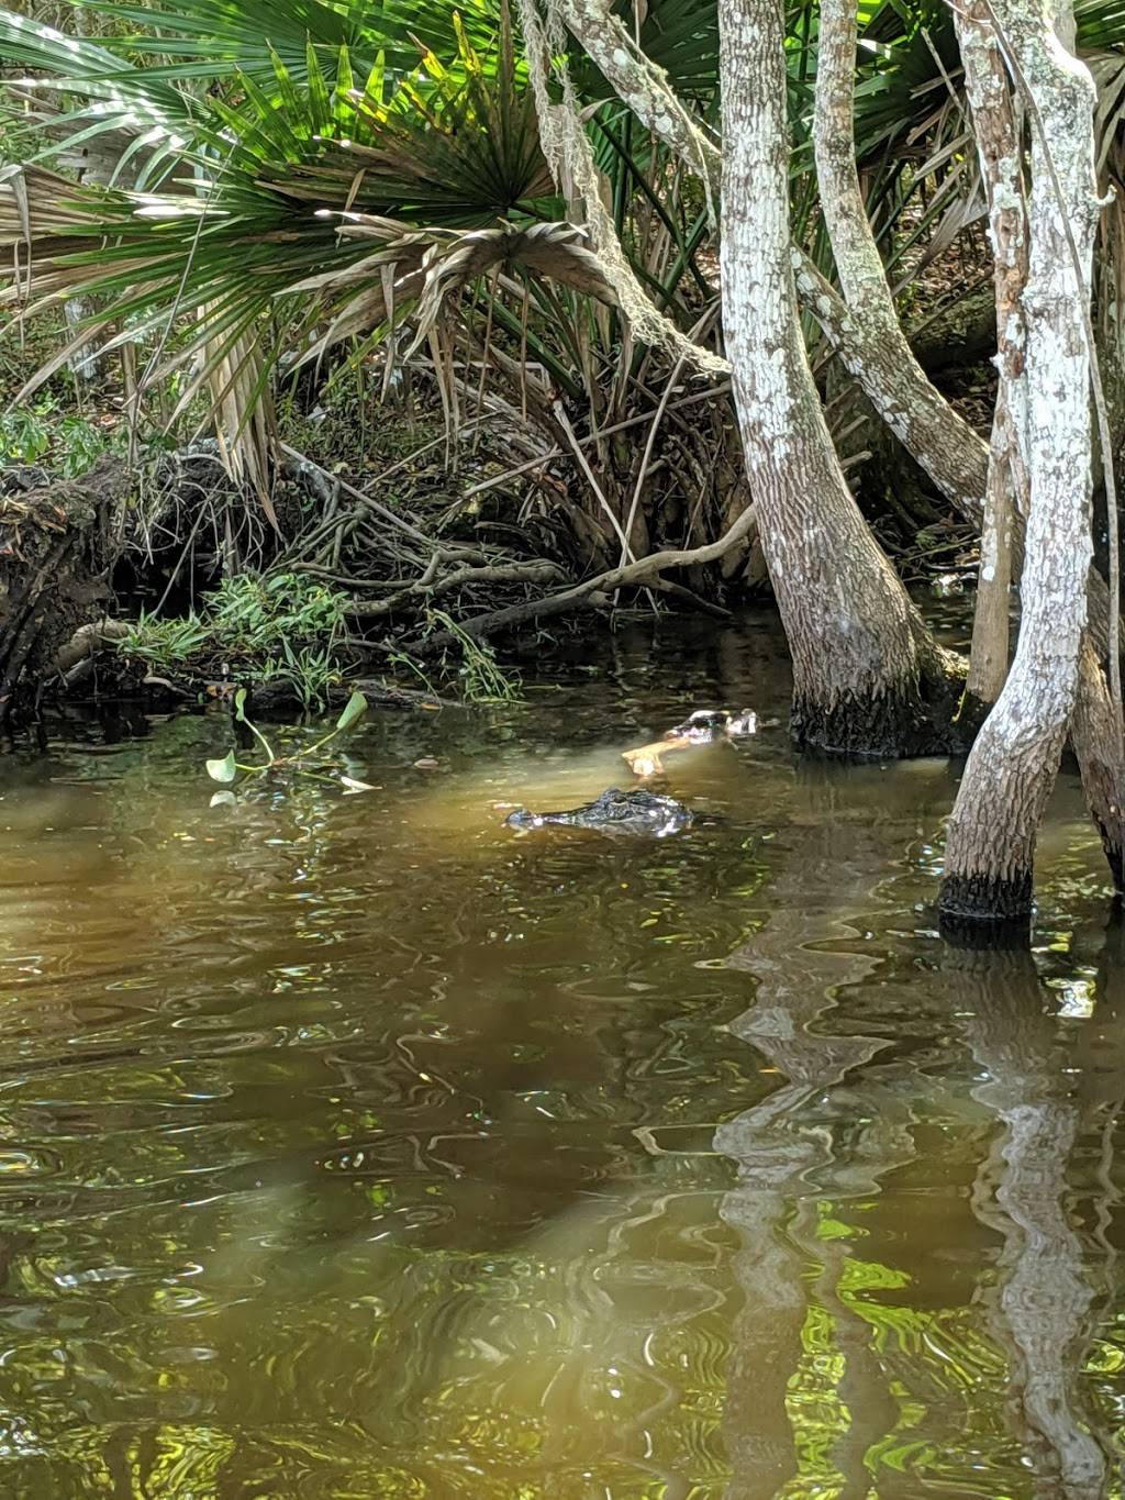
M1012 578L1012 506L1028 512L1028 470L1020 447L1026 426L1023 290L1028 282L1028 214L1020 122L987 0L954 9L981 180L988 202L988 238L996 288L996 412L988 450L988 486L981 524L968 712L978 720L996 702L1008 675L1008 612Z

